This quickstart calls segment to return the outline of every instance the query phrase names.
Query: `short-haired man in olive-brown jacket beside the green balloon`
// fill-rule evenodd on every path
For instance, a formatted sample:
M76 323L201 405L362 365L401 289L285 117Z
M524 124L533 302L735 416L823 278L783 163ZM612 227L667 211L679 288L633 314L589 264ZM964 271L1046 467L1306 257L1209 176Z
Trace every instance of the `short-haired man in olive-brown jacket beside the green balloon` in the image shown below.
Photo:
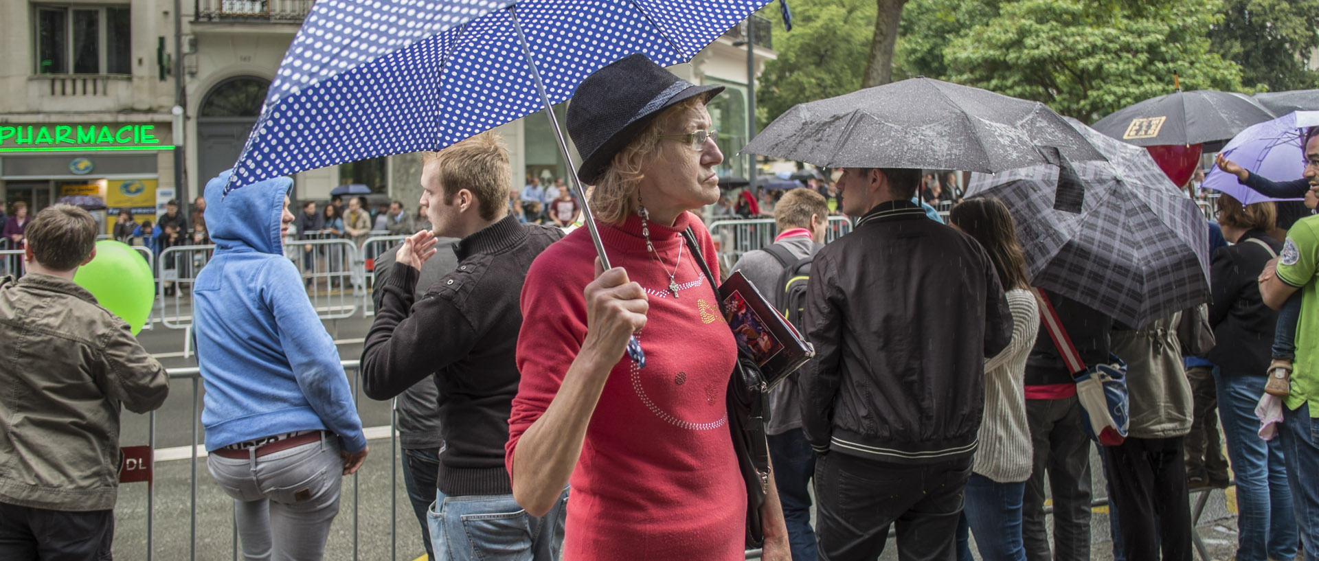
M165 367L74 283L96 221L55 204L25 230L28 275L0 279L0 560L109 558L119 415L165 403Z

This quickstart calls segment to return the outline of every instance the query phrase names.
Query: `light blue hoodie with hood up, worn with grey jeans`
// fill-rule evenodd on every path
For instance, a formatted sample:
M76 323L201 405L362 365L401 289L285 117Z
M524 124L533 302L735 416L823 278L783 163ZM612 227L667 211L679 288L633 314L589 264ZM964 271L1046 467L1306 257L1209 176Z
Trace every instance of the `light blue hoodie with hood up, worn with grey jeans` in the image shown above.
M293 431L326 429L347 452L367 446L339 350L284 255L280 215L293 180L224 195L230 171L206 184L215 254L193 284L193 336L206 385L206 449Z

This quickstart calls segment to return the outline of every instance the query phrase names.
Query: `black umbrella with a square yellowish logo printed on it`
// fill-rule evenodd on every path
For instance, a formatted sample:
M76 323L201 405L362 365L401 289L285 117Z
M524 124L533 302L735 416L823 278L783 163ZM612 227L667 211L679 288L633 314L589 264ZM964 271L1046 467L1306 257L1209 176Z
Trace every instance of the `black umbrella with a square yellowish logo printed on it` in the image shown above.
M1244 94L1196 90L1150 97L1109 113L1095 130L1136 146L1204 144L1228 140L1274 115Z

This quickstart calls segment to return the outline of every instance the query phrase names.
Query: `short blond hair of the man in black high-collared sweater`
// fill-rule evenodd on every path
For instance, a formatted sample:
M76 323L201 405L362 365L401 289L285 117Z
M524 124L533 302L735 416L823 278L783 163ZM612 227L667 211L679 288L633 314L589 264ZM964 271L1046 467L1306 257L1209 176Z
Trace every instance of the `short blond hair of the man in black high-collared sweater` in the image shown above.
M443 150L423 151L421 162L422 166L439 163L445 203L466 188L480 201L481 220L495 220L508 212L513 170L508 163L508 146L499 133L487 130Z

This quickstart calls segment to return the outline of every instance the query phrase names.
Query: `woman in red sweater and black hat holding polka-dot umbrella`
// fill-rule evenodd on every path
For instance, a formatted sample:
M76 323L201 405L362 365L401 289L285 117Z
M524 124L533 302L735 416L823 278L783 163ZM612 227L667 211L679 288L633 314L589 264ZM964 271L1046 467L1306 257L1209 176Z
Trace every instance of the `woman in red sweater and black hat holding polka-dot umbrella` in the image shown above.
M600 270L586 228L532 265L506 445L513 496L533 516L571 485L565 558L744 558L747 490L724 406L737 348L682 238L691 228L719 270L687 211L719 199L706 101L721 90L634 54L588 76L568 107L615 269ZM632 334L644 367L624 354ZM769 490L762 558L789 560Z

